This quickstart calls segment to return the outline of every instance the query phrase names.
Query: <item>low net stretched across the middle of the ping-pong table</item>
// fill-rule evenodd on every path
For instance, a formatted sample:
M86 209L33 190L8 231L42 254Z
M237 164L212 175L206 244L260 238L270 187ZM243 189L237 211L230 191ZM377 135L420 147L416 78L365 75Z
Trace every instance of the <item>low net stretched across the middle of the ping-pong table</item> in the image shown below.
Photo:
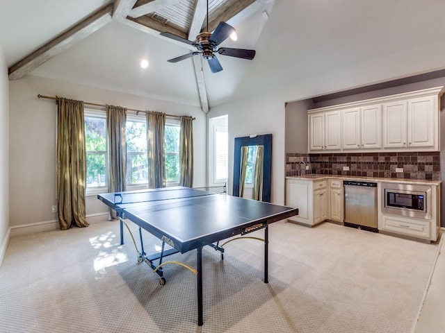
M225 185L220 187L184 187L179 189L164 187L162 189L149 189L147 191L137 191L132 193L115 193L114 203L116 205L125 205L130 203L154 203L166 200L186 200L225 193Z

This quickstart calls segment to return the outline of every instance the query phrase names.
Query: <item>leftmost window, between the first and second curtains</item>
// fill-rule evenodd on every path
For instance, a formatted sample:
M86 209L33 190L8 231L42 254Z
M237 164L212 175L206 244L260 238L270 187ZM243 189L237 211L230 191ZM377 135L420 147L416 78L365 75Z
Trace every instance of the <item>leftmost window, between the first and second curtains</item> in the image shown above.
M86 187L107 187L106 119L104 112L85 110Z

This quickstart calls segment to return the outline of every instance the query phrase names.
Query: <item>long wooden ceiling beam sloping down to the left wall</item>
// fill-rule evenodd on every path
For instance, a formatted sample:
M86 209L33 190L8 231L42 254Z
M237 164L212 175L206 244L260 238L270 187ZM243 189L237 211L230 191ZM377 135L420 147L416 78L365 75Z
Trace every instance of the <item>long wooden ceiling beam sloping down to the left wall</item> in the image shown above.
M9 79L18 80L19 78L23 78L47 60L65 51L65 49L94 33L99 28L102 28L102 26L111 22L111 12L113 12L113 3L100 8L86 19L83 19L79 24L76 24L68 31L65 31L65 33L61 33L47 44L44 44L44 46L40 47L37 51L19 60L19 62L16 62L9 68Z

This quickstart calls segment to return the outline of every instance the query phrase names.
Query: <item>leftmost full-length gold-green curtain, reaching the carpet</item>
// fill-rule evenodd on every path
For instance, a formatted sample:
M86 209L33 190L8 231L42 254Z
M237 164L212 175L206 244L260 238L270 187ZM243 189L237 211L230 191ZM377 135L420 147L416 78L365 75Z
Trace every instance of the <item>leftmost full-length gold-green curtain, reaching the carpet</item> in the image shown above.
M57 207L61 230L88 227L83 102L57 98Z

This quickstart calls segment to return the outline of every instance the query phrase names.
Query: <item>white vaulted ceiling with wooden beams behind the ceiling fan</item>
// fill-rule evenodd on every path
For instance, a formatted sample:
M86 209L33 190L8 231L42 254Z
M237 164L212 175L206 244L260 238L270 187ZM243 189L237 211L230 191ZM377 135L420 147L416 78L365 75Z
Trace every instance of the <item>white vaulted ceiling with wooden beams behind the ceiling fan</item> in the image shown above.
M443 69L444 15L442 0L209 0L209 31L225 21L238 34L223 46L257 51L251 61L218 55L224 70L212 74L200 56L167 62L194 48L160 35L207 31L207 0L1 0L0 45L10 80L31 74L207 112L268 89L327 93Z

